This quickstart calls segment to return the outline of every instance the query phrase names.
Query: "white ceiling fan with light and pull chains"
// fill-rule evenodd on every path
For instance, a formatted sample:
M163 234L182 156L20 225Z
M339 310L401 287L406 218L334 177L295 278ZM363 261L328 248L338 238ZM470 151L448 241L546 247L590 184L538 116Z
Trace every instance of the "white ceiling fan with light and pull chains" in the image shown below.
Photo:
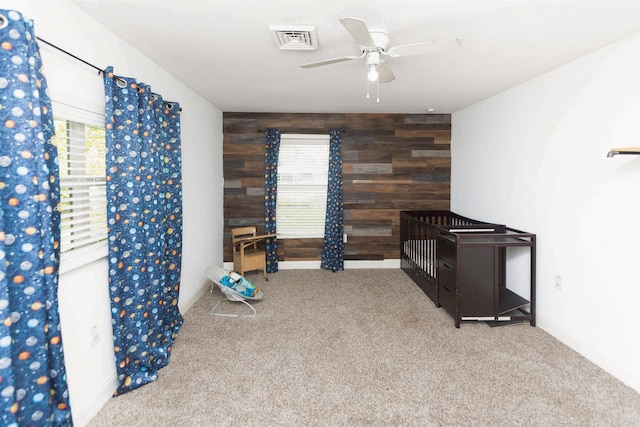
M367 24L359 18L342 18L340 23L347 29L360 48L360 55L343 56L324 61L301 65L302 68L314 68L338 62L366 58L367 78L370 82L389 83L395 79L391 68L384 60L385 56L415 56L438 53L460 45L459 39L433 40L389 47L389 35L382 30L369 30ZM367 98L369 97L367 89ZM378 97L378 102L380 98Z

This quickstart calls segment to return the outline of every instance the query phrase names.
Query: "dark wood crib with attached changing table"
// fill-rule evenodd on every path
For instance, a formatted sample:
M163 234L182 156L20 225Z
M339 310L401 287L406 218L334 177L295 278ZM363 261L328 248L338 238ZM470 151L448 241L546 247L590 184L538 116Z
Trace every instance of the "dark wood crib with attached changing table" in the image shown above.
M535 234L477 221L451 211L400 213L401 267L455 320L535 325ZM507 288L507 249L528 248L527 298Z

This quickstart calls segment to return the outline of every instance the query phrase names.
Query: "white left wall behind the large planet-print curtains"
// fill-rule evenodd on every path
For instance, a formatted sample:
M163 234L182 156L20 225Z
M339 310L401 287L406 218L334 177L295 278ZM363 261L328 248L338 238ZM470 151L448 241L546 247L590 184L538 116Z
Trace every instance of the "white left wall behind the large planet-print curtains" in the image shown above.
M222 112L69 1L5 0L1 7L33 19L37 36L102 69L113 65L117 74L135 77L164 99L180 102L184 225L179 307L184 313L207 289L205 267L222 263ZM104 113L97 71L43 43L40 51L52 99ZM95 415L116 387L107 268L103 258L60 276L62 337L78 426ZM100 337L95 345L93 327Z

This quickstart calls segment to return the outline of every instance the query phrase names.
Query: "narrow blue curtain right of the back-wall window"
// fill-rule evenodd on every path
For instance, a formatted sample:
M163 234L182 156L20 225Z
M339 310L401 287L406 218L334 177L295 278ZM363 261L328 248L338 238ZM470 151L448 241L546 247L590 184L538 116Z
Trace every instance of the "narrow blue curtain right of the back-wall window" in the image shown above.
M329 133L329 176L327 183L327 213L324 221L324 241L322 245L323 270L333 272L344 270L343 238L343 194L342 194L342 138L340 130Z

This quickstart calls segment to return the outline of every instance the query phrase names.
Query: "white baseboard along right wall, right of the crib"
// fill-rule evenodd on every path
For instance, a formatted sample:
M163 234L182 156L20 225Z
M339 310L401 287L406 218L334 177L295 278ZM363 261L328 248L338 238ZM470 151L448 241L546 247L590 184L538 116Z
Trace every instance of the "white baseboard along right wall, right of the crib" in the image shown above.
M557 325L544 316L540 316L539 314L536 314L536 326L548 332L558 341L571 347L571 349L580 353L586 359L595 363L609 374L622 381L624 384L640 392L640 377L635 375L633 372L630 372L629 369L624 366L612 362L611 358L602 354L602 352L597 348L585 343L570 331L567 331L565 328Z

